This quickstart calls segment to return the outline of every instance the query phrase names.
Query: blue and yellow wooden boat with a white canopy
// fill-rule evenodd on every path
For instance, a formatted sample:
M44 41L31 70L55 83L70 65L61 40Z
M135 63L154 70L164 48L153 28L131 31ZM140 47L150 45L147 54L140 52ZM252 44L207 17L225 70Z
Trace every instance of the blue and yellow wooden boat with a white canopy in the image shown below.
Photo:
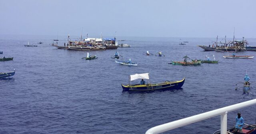
M149 80L148 84L140 85L140 84L130 84L131 81L136 79L146 79ZM162 83L151 84L149 79L149 74L133 74L129 75L129 84L121 84L123 88L123 92L126 91L153 91L153 90L175 90L180 89L185 82L185 77L180 81L165 81Z

